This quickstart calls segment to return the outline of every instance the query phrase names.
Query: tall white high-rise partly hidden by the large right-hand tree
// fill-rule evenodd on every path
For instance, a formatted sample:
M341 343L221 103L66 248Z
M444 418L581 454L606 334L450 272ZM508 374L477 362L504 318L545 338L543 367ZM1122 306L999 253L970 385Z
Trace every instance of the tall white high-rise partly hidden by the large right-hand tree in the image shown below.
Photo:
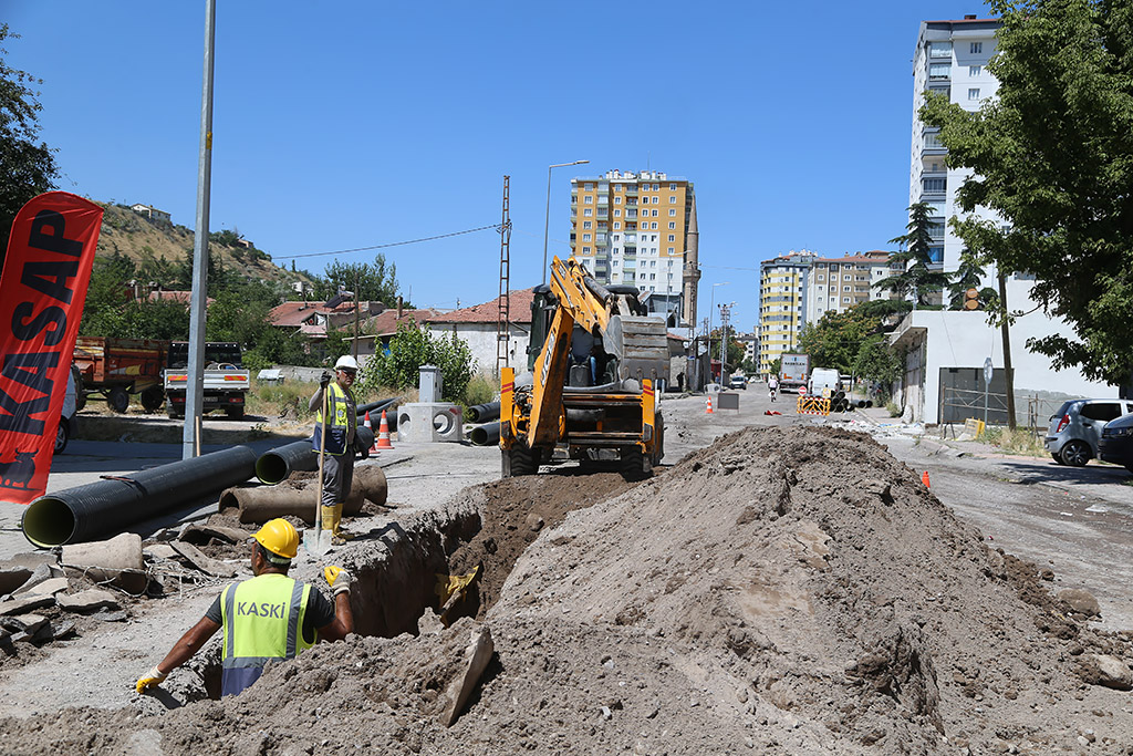
M932 261L952 272L960 265L963 241L947 226L960 215L956 190L971 171L948 168L947 150L940 144L939 129L920 119L925 92L940 92L964 110L976 111L999 88L987 70L995 53L995 33L1002 26L995 18L964 16L960 20L921 22L913 56L913 135L909 169L909 204L927 202L932 209Z

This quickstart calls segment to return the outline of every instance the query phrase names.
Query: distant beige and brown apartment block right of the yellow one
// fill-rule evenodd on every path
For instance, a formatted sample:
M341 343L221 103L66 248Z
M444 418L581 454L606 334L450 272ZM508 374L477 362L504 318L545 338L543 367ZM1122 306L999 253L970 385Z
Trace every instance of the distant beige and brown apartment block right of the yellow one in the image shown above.
M892 292L874 286L901 272L901 263L889 262L891 254L875 249L843 257L815 257L803 297L804 322L817 323L826 313L844 313L871 299L891 299Z

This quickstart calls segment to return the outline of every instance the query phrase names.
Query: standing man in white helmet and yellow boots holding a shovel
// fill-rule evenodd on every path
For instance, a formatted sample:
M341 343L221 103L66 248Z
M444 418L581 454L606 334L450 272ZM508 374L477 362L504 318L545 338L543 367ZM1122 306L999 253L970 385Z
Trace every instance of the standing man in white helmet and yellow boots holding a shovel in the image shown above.
M325 447L323 461L323 528L330 530L337 541L341 541L339 524L342 521L342 504L350 494L353 483L353 457L356 451L358 425L357 402L350 388L358 377L358 362L350 355L339 357L334 363L334 377L323 371L318 381L318 391L310 398L308 409L315 413L315 451L320 444ZM330 413L330 421L323 421L323 413ZM323 427L326 426L326 439L323 441ZM363 459L369 457L369 449L363 448Z

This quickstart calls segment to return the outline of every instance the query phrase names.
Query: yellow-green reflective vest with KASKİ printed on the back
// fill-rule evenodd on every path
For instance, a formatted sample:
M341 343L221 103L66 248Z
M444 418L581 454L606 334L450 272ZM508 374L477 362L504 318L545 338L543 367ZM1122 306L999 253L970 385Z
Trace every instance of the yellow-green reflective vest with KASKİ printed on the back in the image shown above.
M303 638L310 586L269 572L224 589L221 695L237 695L259 679L274 659L292 659L314 646Z

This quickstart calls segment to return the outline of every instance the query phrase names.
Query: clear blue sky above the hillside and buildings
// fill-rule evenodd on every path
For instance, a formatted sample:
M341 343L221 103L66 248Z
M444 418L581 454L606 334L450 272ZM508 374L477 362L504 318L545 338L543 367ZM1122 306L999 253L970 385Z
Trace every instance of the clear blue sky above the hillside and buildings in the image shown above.
M60 188L191 228L204 0L0 7L22 35L9 65L43 79ZM522 288L542 279L547 165L590 161L553 175L550 247L563 256L571 177L649 167L696 184L701 317L727 282L715 301L750 330L759 261L892 248L918 26L964 14L988 15L977 0L219 0L210 226L289 265L499 223L506 173ZM385 256L421 306L497 291L492 230Z

